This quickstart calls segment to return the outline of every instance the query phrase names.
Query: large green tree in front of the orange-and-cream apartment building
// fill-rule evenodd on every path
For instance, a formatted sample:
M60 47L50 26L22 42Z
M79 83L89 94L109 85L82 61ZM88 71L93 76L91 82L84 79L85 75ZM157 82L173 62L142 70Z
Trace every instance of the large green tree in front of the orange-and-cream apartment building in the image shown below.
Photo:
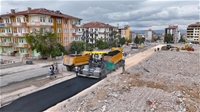
M50 55L55 57L60 55L63 49L57 43L56 33L40 30L26 34L26 41L30 45L31 50L36 50L43 58ZM61 48L61 49L60 49Z

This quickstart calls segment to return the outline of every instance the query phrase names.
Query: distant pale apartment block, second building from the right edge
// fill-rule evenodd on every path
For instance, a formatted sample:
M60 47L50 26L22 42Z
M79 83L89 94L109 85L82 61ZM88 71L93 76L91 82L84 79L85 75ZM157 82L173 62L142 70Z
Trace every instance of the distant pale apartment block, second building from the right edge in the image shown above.
M180 31L178 30L178 26L169 26L165 28L165 34L171 34L173 36L174 43L179 42L181 38Z

